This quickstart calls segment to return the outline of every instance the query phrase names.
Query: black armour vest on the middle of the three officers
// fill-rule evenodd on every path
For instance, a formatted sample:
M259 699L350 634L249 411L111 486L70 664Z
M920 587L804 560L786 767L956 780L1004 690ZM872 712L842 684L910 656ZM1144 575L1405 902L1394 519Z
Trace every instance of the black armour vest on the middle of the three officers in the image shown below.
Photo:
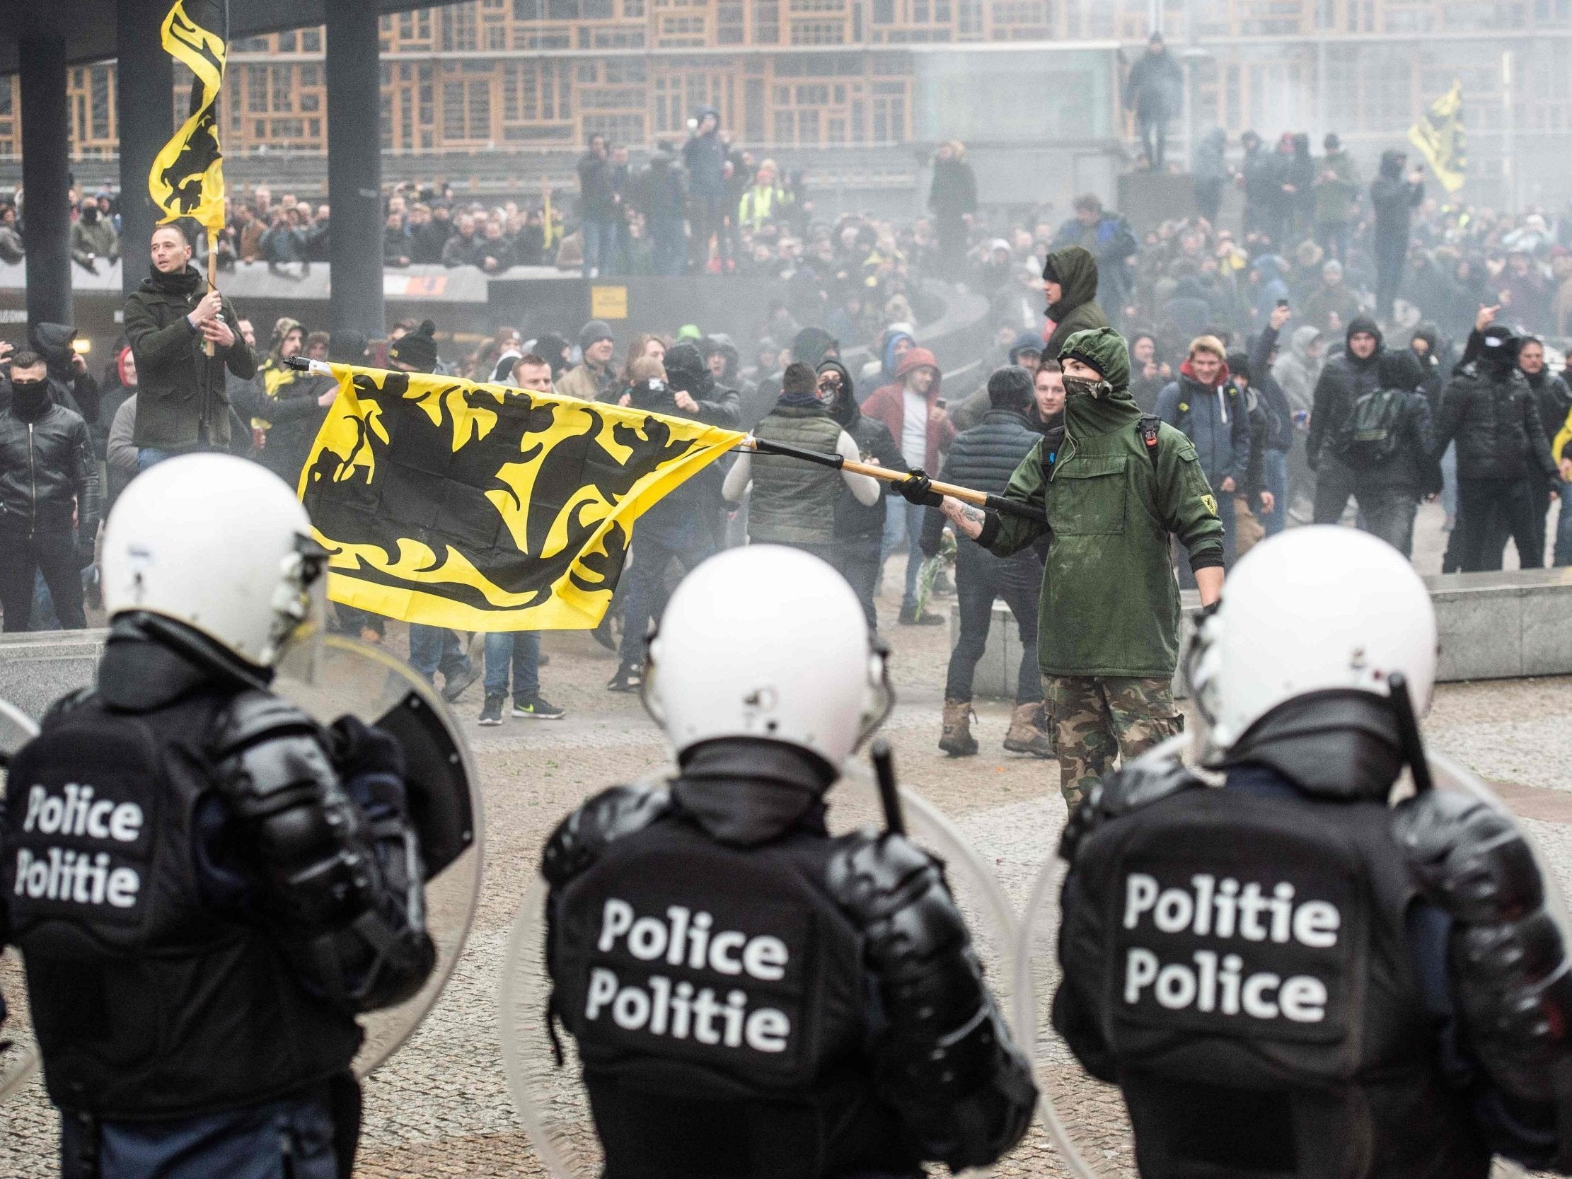
M863 1052L861 940L824 887L838 846L726 847L667 816L561 891L555 1005L605 1179L920 1174Z

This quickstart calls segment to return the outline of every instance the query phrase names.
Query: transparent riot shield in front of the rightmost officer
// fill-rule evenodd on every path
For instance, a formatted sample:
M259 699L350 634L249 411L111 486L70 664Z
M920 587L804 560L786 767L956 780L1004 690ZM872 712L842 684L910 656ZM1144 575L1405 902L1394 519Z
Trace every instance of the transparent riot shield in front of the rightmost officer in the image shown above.
M1141 761L1171 758L1193 764L1192 737L1190 733L1170 737L1141 755ZM1470 794L1503 813L1508 811L1506 803L1473 770L1434 750L1426 759L1437 789ZM1401 797L1412 789L1409 772L1404 770L1396 794ZM1550 910L1561 924L1563 937L1567 937L1572 926L1567 924L1556 877L1534 844L1530 825L1520 819L1517 825L1534 849ZM1056 843L1058 832L1053 838ZM1033 1036L1041 1094L1039 1113L1064 1171L1075 1179L1137 1179L1135 1137L1118 1086L1089 1077L1052 1025L1053 994L1060 986L1058 937L1063 885L1064 863L1055 855L1042 866L1020 920L1020 945L1014 954L1014 1027L1019 1030L1017 1034ZM1567 938L1567 945L1572 945L1572 937ZM1520 1166L1500 1159L1492 1170L1495 1179L1522 1174Z

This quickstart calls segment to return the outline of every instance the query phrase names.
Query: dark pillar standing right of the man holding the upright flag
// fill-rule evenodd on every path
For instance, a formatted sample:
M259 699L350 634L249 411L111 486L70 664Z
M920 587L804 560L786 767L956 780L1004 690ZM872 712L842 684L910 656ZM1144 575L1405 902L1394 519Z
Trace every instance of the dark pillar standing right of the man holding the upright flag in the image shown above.
M327 200L333 330L387 332L382 302L382 74L374 0L327 5Z

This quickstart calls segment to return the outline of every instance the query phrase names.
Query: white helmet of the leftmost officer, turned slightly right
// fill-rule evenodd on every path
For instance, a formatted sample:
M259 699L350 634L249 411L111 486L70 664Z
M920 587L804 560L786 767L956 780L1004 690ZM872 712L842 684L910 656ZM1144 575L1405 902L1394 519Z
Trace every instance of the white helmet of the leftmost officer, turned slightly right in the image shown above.
M185 454L132 479L104 527L104 607L173 618L253 667L319 612L325 552L283 479L231 454Z

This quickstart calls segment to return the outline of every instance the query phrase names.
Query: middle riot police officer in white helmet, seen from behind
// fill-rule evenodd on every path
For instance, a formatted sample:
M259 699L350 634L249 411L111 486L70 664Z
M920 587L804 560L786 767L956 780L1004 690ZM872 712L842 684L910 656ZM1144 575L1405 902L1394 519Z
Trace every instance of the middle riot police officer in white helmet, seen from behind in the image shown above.
M1031 1071L942 865L825 828L883 663L795 549L720 553L673 594L643 690L679 772L596 795L542 860L605 1179L916 1179L1025 1133Z

